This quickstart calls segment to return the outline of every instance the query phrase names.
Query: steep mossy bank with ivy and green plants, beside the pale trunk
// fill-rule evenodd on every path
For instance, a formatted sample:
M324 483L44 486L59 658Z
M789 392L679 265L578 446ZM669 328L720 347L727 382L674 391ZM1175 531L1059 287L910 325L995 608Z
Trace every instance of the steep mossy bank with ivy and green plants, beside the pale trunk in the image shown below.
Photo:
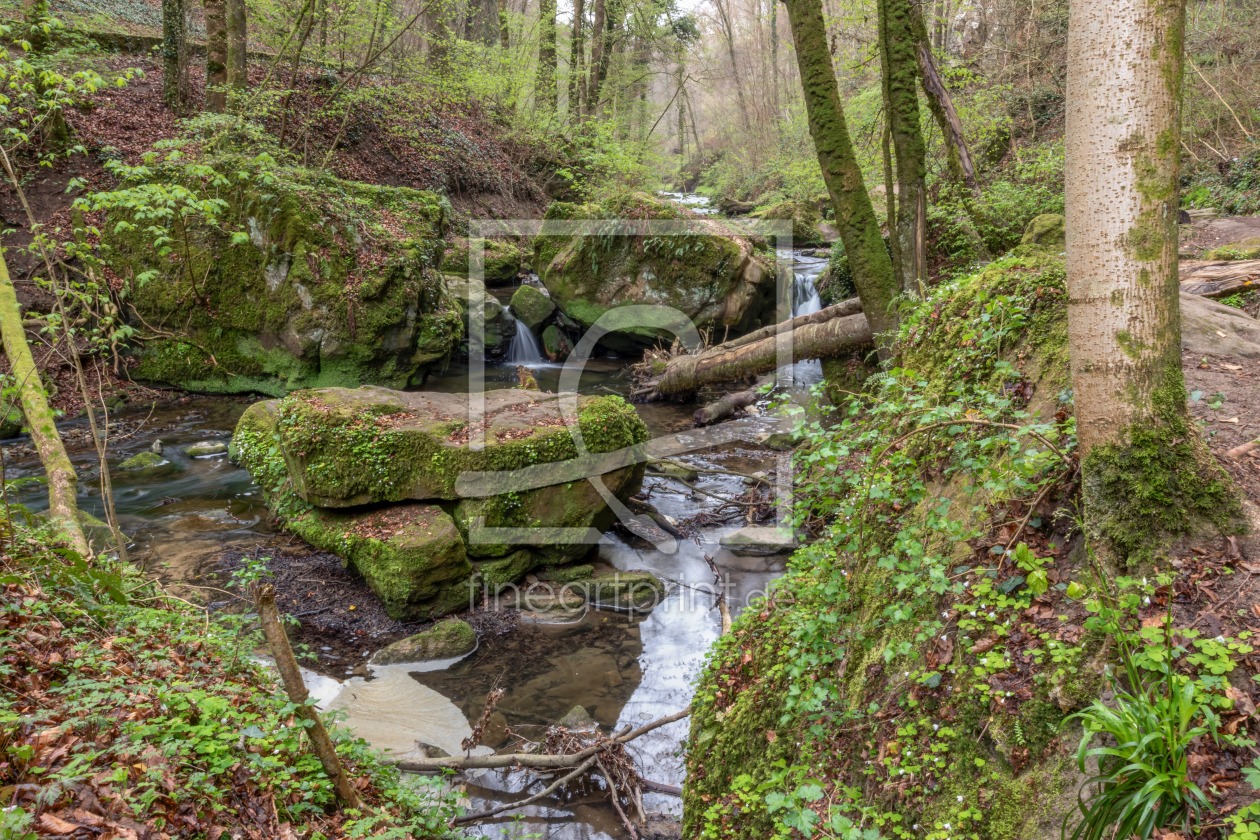
M987 559L997 559L993 523L1004 521L994 510L1019 504L1012 453L982 443L960 455L963 427L912 437L903 477L876 482L863 500L871 489L854 470L864 461L850 450L871 446L861 434L883 423L869 440L887 445L915 428L915 414L950 402L976 407L964 421L1053 428L1070 383L1065 304L1060 254L1021 248L903 312L898 366L871 379L869 395L864 370L828 366L852 392L842 403L852 419L847 431L810 433L798 468L818 470L813 491L853 497L837 505L838 521L811 520L824 538L794 555L770 599L747 608L712 654L693 700L687 836L777 836L801 819L839 836L857 824L893 837L1057 836L1056 795L1079 785L1058 725L1096 696L1100 678L1085 662L1099 640L1062 636L1051 612L1084 610L1055 589L1048 621L1029 620L1041 599L1019 588L1011 562L995 573ZM898 393L916 408L872 411ZM828 452L834 466L819 460ZM840 477L828 485L830 475ZM919 490L898 484L907 480ZM1060 558L1066 579L1061 536L1048 520L1038 528L1022 540Z

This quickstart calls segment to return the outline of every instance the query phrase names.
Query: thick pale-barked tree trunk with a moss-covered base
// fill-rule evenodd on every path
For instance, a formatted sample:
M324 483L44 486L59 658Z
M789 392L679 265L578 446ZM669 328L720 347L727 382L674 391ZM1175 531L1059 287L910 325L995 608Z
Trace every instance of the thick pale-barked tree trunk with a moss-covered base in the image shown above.
M1184 0L1074 0L1068 343L1086 523L1142 562L1239 502L1186 411L1177 276Z

